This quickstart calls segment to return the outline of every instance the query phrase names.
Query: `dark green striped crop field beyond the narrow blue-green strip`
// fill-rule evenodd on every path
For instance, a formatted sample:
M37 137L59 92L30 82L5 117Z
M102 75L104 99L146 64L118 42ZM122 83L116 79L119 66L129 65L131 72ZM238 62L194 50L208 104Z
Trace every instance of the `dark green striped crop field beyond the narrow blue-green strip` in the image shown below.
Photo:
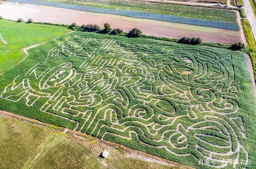
M46 1L46 0L45 0ZM214 8L203 8L194 6L160 4L151 2L126 1L126 0L47 0L66 4L78 4L99 8L125 9L156 14L166 14L174 16L185 16L190 18L200 18L206 20L216 20L236 23L236 12L232 10L222 10Z

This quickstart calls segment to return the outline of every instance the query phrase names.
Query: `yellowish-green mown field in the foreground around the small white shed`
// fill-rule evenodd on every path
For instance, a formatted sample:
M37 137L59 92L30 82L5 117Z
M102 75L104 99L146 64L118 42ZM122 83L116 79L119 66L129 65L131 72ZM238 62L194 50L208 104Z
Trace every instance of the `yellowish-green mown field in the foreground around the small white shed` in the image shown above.
M122 150L110 152L106 167L88 141L2 116L0 129L1 169L178 169L123 157Z

